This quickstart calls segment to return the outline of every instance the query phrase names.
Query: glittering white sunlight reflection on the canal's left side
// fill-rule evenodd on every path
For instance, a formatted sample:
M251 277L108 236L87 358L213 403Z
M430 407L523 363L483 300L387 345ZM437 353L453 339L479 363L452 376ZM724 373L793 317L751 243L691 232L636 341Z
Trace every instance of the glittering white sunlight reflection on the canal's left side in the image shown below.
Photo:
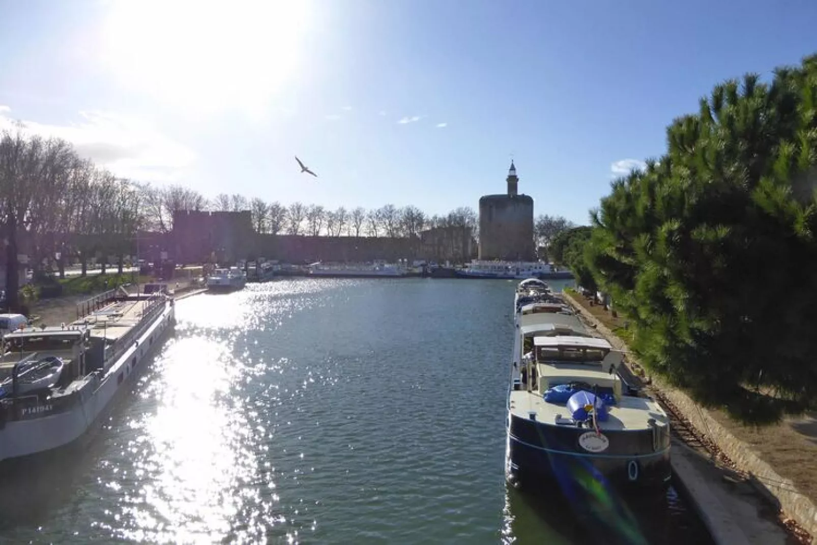
M109 482L111 489L136 491L113 515L118 524L100 528L140 542L258 543L268 529L286 522L275 507L275 467L262 459L279 422L265 426L258 410L275 404L279 384L257 385L256 400L242 397L250 382L280 372L280 364L266 361L263 349L238 351L235 345L248 330L275 328L309 306L308 298L293 300L293 292L320 290L308 282L266 284L229 296L194 297L177 307L181 334L141 394L154 400L154 410L129 422L133 438L123 456L134 460L138 485L124 475Z

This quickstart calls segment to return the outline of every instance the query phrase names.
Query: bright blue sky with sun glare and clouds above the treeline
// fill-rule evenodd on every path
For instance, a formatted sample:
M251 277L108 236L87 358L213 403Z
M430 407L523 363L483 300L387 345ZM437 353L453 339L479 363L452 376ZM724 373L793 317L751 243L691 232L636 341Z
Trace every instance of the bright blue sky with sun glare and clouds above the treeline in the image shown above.
M514 154L537 214L585 223L715 83L817 51L810 0L170 3L0 2L0 124L328 208L476 208Z

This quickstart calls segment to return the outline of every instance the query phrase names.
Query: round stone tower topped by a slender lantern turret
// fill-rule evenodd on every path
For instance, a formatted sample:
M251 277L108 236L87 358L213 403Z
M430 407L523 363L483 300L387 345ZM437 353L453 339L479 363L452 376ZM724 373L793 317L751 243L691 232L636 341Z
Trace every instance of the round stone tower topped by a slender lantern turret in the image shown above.
M534 199L519 194L519 177L511 161L507 194L480 199L480 259L534 261Z

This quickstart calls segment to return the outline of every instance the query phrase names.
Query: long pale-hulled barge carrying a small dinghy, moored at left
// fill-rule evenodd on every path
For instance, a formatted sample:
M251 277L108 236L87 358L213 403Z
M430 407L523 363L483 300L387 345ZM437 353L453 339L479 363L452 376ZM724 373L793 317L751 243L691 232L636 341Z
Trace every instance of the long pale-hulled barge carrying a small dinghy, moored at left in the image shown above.
M3 338L0 461L83 436L175 320L173 301L162 290L111 290L78 308L93 310L73 324L21 328Z

